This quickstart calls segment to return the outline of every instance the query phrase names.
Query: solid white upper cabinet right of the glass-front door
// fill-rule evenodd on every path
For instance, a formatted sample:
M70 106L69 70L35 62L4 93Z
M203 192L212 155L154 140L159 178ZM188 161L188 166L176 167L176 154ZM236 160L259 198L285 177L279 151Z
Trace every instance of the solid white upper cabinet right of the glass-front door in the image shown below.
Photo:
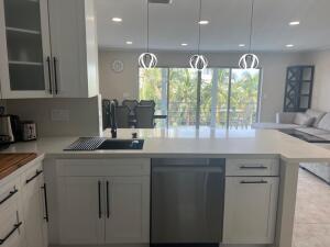
M48 4L54 96L64 98L96 96L98 87L96 26L94 12L88 12L92 8L92 1L50 0ZM87 31L94 33L88 32L87 36ZM94 94L89 93L90 85L94 86Z

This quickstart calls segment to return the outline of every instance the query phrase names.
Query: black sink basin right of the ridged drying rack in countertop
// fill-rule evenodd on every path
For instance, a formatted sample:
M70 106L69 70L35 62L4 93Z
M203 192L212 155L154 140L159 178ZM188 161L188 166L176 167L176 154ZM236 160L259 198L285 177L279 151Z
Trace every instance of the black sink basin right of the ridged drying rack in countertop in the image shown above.
M98 150L142 149L144 139L106 139Z

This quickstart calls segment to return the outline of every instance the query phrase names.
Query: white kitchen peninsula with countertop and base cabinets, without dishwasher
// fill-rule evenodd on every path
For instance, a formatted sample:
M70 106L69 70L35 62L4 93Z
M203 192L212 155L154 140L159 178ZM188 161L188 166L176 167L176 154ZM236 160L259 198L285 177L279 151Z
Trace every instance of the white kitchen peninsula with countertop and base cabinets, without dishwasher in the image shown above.
M271 130L118 130L118 137L131 138L133 132L138 133L139 138L145 139L142 150L64 151L63 149L77 137L41 138L37 142L18 143L6 150L32 151L45 156L51 244L147 245L151 160L218 158L226 159L226 182L228 182L226 184L231 186L230 189L226 189L224 195L227 201L224 201L221 242L223 246L250 244L250 246L290 247L299 162L330 161L329 150ZM109 134L106 131L102 136L110 137ZM109 181L114 190L113 197L121 200L119 202L113 198L110 199L109 204L113 206L112 218L109 215L107 204L109 198L106 192L109 189ZM261 184L251 186L255 181ZM242 183L246 183L248 189L235 186ZM94 184L100 184L100 193L107 194L106 198L99 198L101 202L95 204L98 197L94 194ZM136 187L140 189L136 190ZM131 191L138 194L132 194ZM245 193L251 193L248 198L253 198L255 203L263 203L265 201L263 198L268 197L270 202L266 204L268 207L255 204L253 207L260 212L250 210L244 214L240 212L241 207L228 204L246 203L246 206L251 207L254 201L246 202L244 201L246 199L230 197L240 194L246 198ZM132 201L132 198L139 200ZM82 206L82 203L88 206ZM133 206L130 209L128 204ZM134 211L134 204L141 205L139 212ZM94 211L99 213L98 217L90 213ZM129 222L125 215L135 218L136 225ZM241 215L239 218L241 222L229 215ZM87 227L86 223L92 225L91 228ZM235 229L238 226L243 228ZM249 227L255 227L255 231L250 231L250 235L246 235ZM263 231L264 228L266 229Z

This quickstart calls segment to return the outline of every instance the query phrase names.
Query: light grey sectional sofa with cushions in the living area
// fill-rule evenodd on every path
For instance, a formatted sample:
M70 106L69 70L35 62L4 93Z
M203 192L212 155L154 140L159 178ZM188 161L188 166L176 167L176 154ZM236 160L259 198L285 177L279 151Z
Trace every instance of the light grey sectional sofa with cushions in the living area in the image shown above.
M330 112L309 109L305 113L280 112L275 123L255 123L253 128L297 130L330 141ZM322 144L330 149L330 144ZM329 150L330 151L330 150ZM330 184L330 164L300 164L300 167Z

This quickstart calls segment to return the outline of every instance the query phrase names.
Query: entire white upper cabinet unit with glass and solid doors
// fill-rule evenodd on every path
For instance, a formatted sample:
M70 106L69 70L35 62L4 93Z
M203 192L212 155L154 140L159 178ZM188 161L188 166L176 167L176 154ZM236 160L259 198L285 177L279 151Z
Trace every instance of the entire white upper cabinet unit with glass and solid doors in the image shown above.
M98 94L92 0L0 0L0 12L3 99Z

